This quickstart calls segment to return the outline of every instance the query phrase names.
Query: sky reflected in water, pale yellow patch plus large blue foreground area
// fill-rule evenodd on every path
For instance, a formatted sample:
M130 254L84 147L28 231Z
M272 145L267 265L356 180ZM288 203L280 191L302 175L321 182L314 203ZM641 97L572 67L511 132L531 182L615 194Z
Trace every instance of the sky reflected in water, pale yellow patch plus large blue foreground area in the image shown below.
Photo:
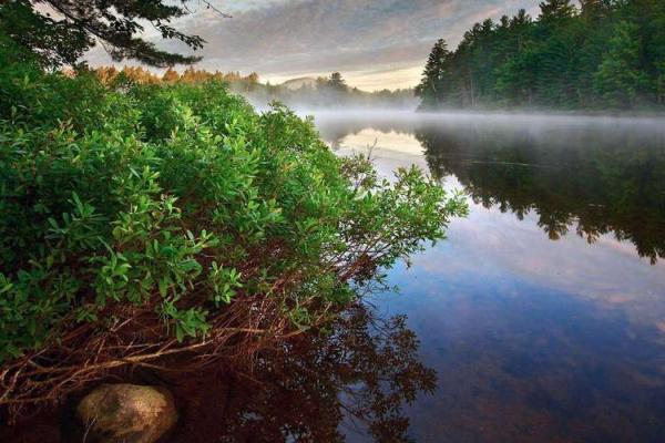
M337 138L338 152L375 140L381 174L427 167L407 130L356 127ZM446 187L460 184L448 177ZM399 296L374 299L409 316L439 372L437 394L412 406L416 440L659 441L663 260L651 266L611 235L589 245L572 230L552 241L535 214L470 209L447 240L390 272Z

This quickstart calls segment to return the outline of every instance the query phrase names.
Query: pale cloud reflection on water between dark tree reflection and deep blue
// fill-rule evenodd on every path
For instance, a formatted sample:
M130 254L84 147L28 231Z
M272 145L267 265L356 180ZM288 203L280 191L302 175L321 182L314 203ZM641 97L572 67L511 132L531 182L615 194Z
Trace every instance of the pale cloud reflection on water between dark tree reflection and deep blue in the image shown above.
M452 223L449 240L416 258L415 269L432 287L471 278L493 292L509 281L524 297L535 296L522 292L525 285L548 288L620 308L640 324L665 318L664 262L651 266L610 235L592 246L575 235L551 241L532 216L520 222L473 204L469 218Z

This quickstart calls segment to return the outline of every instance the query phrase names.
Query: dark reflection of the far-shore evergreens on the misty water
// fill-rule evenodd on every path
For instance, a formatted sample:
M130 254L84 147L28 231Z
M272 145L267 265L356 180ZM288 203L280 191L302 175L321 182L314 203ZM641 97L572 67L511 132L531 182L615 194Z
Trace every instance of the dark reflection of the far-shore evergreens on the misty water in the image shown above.
M653 134L424 125L417 138L433 175L456 175L485 207L533 210L551 239L614 233L652 262L665 257L665 145Z

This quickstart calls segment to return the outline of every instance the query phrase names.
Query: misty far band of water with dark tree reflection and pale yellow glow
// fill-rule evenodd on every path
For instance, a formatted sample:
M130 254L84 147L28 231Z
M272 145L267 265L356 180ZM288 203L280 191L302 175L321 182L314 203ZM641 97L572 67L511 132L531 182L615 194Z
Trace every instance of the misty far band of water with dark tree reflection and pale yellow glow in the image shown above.
M538 214L552 240L612 233L651 262L665 256L663 120L323 115L319 127L336 147L351 135L423 153L434 176L457 177L475 203L519 219Z

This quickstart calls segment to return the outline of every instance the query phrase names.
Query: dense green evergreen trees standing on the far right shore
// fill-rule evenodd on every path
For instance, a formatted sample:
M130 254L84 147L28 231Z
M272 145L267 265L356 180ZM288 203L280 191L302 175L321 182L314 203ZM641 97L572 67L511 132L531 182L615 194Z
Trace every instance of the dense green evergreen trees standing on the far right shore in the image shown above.
M545 0L439 40L416 89L422 109L665 105L665 2Z

